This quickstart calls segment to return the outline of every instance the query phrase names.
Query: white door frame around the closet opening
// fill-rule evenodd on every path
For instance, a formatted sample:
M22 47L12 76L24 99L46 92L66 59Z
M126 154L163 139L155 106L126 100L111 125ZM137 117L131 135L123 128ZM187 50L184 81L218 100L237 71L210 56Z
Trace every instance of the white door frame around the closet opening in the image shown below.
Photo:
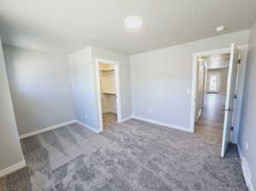
M103 130L102 122L102 91L101 91L101 80L100 80L100 63L109 64L114 66L115 72L115 90L116 90L116 108L117 108L117 122L121 123L122 120L122 108L121 108L121 91L120 91L120 78L119 78L119 62L109 61L105 59L96 58L96 92L97 92L97 105L98 105L98 115L100 130Z

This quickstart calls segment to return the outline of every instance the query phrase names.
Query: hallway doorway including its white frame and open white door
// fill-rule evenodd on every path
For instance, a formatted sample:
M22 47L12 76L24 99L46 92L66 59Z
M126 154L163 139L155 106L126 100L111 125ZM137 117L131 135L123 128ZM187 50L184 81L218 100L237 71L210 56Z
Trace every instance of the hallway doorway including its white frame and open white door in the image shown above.
M244 73L242 76L239 73L240 56L235 43L227 49L194 54L191 132L201 131L208 136L218 136L222 157L230 143L234 122L239 124L237 113L240 113L241 97L237 105L236 95L241 95L243 88L238 79L244 78ZM243 78L240 78L241 81Z

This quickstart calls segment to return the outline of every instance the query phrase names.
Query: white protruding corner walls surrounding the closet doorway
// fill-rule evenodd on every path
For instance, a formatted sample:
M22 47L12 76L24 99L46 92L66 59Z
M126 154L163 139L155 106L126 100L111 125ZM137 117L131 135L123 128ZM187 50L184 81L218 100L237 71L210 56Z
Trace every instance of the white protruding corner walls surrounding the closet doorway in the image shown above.
M69 55L76 119L90 125L95 130L100 130L96 91L96 58L119 61L123 118L131 115L130 58L108 49L95 47L88 47Z

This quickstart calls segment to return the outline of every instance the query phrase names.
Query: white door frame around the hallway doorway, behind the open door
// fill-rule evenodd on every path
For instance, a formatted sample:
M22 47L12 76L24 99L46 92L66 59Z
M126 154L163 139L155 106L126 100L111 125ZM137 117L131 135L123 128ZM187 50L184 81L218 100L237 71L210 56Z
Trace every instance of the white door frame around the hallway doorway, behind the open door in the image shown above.
M231 43L230 43L231 44ZM241 45L237 46L238 49L245 49L246 54L247 54L247 45ZM196 86L197 86L197 58L200 56L207 56L207 55L219 55L219 54L229 54L230 53L230 48L225 48L225 49L213 49L209 51L204 51L204 52L198 52L193 54L193 62L192 62L192 89L191 89L191 109L190 109L190 132L194 133L195 132L195 101L196 101ZM242 66L242 71L239 75L241 75L241 78L239 78L240 82L238 87L238 93L237 95L240 96L239 102L237 103L237 114L236 114L236 123L239 125L240 123L240 115L241 115L241 101L242 101L242 90L243 90L243 84L244 84L244 79L245 79L245 67L246 67L246 57L241 58L241 64L244 65ZM237 127L236 127L237 129ZM237 133L237 130L235 130ZM232 136L233 139L233 136ZM236 138L235 141L232 140L232 142L237 142Z

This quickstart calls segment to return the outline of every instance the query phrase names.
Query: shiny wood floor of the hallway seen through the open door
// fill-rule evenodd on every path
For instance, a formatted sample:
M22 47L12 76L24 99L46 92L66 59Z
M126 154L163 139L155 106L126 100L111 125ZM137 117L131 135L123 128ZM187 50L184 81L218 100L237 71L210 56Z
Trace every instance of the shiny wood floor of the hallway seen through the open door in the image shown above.
M207 136L217 136L219 144L223 132L225 99L224 95L205 94L201 117L196 121L196 132Z

